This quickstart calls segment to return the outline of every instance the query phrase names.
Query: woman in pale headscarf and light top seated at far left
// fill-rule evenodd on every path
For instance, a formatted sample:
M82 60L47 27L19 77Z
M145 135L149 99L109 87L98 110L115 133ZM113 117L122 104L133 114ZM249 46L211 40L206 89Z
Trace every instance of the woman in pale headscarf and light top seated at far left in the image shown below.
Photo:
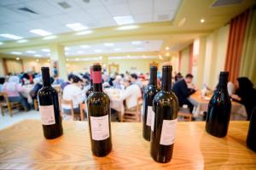
M30 106L27 103L27 100L20 95L20 92L23 92L24 88L21 87L20 78L17 76L9 77L9 82L4 82L3 92L6 92L9 97L9 102L19 102L26 108L26 111L30 110Z

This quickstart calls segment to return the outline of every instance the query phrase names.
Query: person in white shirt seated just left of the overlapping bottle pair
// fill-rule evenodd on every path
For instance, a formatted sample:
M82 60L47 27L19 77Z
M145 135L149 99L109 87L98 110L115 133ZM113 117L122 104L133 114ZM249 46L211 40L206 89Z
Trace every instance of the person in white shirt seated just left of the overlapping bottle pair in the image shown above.
M120 99L125 100L125 111L136 111L137 99L142 97L141 89L137 84L132 84L131 80L125 80L125 91Z

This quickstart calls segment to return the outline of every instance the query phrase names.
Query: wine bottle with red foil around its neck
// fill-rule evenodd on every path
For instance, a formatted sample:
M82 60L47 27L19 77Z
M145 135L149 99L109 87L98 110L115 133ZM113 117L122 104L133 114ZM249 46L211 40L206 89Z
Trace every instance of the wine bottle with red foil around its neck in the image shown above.
M102 66L92 69L93 92L87 99L91 150L95 156L107 156L112 150L110 99L102 91Z

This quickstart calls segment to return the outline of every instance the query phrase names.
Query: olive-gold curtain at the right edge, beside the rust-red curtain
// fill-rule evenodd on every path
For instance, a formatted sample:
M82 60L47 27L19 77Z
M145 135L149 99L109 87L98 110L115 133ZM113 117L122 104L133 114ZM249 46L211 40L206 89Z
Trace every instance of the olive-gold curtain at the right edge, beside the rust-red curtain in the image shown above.
M256 6L250 9L241 54L240 77L248 77L256 86Z

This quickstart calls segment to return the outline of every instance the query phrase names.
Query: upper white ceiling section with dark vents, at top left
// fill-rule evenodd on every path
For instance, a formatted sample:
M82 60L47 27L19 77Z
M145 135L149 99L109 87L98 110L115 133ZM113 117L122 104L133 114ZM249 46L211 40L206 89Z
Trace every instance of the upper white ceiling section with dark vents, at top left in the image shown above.
M181 0L0 0L0 34L29 38L29 32L43 29L53 34L72 31L70 23L82 23L89 29L117 26L114 16L132 15L137 23L172 20ZM58 3L66 2L70 8ZM18 8L30 8L31 14ZM0 37L0 41L10 39Z

